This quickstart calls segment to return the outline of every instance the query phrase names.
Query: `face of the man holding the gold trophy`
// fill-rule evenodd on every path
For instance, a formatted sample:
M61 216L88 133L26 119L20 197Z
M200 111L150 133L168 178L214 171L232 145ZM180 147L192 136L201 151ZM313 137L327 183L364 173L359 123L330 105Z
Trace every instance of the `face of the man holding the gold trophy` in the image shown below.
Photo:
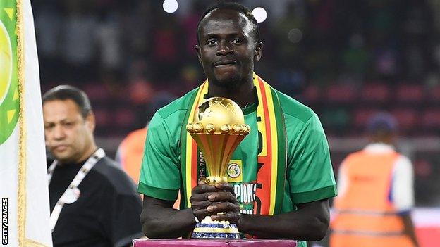
M200 23L200 44L195 47L209 80L233 87L252 76L262 43L253 37L250 20L238 11L216 10Z

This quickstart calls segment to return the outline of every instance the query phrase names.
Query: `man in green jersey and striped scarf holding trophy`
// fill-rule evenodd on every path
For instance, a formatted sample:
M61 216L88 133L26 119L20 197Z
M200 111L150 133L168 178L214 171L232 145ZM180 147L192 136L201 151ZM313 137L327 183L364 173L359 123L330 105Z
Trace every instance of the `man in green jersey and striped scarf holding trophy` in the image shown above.
M209 215L237 224L249 236L322 239L336 183L317 115L253 73L263 44L247 8L231 3L208 8L197 39L207 82L158 110L149 123L138 187L145 195L140 217L145 235L188 236ZM251 127L228 165L228 183L216 186L202 181L204 160L185 130L197 102L212 96L238 103ZM173 210L178 191L181 209Z

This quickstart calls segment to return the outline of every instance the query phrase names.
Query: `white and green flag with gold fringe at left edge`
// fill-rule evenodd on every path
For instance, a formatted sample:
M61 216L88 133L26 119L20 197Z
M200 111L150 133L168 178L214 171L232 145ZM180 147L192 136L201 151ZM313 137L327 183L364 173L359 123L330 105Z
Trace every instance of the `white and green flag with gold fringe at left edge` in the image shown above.
M30 0L1 0L0 246L52 246L35 43Z

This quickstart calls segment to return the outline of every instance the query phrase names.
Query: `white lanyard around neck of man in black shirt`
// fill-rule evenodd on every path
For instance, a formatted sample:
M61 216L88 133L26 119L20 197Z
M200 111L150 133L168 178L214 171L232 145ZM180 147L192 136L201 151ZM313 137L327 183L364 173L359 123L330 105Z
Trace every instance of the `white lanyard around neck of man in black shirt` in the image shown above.
M95 151L90 158L87 159L87 161L82 165L81 169L76 174L75 178L73 178L71 184L67 187L66 191L64 191L63 195L59 198L59 200L56 202L56 205L54 207L54 210L52 210L51 216L50 216L50 224L51 224L51 230L54 232L56 222L58 221L58 217L61 213L61 209L63 209L64 204L66 203L73 203L76 198L78 198L79 194L76 193L78 190L78 185L82 182L82 179L85 178L87 173L92 170L92 167L102 158L105 156L104 150L102 148L99 148L97 151ZM49 169L47 169L47 179L48 184L50 184L52 175L54 175L54 170L58 162L54 160L54 162L50 165ZM77 196L76 198L72 199L72 196Z

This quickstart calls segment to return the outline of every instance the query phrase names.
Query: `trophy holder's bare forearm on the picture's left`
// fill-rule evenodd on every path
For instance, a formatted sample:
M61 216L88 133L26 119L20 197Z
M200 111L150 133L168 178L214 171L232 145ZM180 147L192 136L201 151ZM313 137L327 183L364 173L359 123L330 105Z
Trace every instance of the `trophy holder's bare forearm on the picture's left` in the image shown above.
M175 210L150 206L140 215L142 229L150 239L173 239L187 236L195 226L193 210Z

